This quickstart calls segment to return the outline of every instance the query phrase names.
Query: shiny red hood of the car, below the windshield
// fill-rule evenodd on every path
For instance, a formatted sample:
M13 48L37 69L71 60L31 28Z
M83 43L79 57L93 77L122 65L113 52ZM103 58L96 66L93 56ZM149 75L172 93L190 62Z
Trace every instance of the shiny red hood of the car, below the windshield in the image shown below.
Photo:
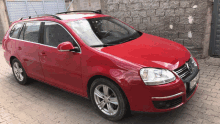
M142 67L168 70L182 66L190 58L190 53L183 45L145 33L135 40L104 47L101 51Z

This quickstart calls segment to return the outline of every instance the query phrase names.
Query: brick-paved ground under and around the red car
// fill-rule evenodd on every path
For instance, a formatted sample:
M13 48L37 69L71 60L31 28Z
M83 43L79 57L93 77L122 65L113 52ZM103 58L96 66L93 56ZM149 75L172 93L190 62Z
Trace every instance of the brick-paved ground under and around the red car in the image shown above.
M110 122L94 112L89 100L32 81L19 85L0 45L0 124L211 124L220 123L220 67L200 64L200 84L192 99L166 113L135 113Z

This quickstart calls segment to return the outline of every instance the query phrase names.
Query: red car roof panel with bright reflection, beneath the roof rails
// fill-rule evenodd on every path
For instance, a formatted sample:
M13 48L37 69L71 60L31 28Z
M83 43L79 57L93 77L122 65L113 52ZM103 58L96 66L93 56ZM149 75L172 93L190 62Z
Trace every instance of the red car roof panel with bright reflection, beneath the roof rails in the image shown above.
M104 14L97 14L97 13L91 13L91 12L77 12L77 13L62 13L62 14L56 14L56 15L45 15L40 17L34 17L34 18L26 18L26 19L20 19L13 23L17 22L24 22L24 21L43 21L45 20L54 20L59 19L63 22L69 22L69 21L75 21L75 20L82 20L82 19L91 19L91 18L99 18L99 17L106 17L108 15Z

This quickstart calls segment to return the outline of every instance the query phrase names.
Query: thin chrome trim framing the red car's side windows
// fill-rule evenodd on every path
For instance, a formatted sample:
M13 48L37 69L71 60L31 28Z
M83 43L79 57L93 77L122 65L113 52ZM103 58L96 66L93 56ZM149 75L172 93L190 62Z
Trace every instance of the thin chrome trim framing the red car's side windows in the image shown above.
M22 22L22 23L27 23L27 22L41 22L41 25L42 25L42 22L54 22L54 21L25 21L25 22ZM72 36L72 34L71 34L63 25L61 25L60 23L58 23L58 22L55 22L55 23L57 23L58 25L60 25L61 27L63 27L63 28L67 31L67 33L68 33L68 34L72 37L72 39L76 42L76 44L77 44L77 46L78 46L78 48L79 48L79 50L80 50L80 51L77 52L77 53L82 54L82 49L81 49L80 45L78 44L78 42L76 41L76 39ZM18 23L17 23L17 24L18 24ZM15 24L15 25L16 25L16 24ZM14 26L15 26L15 25L14 25ZM24 24L23 24L23 25L24 25ZM13 26L13 27L14 27L14 26ZM11 28L11 30L12 30L12 29L13 29L13 28ZM43 29L44 29L44 26L43 26ZM10 31L11 31L11 30L10 30ZM39 30L39 33L40 33L40 30ZM40 36L42 36L42 34L41 34ZM22 40L22 39L18 39L18 38L12 38L12 37L10 36L10 34L9 34L9 38L10 38L10 39L14 39L14 40L20 40L20 41L24 41L24 42L39 44L39 45L43 45L43 46L48 46L48 47L57 49L57 47L43 44L44 41L43 41L43 43L36 43L36 42L27 41L27 40ZM75 51L70 51L70 52L75 53Z

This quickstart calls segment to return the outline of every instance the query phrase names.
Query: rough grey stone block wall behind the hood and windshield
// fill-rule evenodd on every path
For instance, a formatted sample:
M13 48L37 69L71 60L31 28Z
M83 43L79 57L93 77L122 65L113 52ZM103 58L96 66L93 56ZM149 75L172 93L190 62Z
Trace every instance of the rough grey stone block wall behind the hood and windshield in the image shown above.
M202 56L209 0L101 0L101 5L104 14L183 44L197 58Z

